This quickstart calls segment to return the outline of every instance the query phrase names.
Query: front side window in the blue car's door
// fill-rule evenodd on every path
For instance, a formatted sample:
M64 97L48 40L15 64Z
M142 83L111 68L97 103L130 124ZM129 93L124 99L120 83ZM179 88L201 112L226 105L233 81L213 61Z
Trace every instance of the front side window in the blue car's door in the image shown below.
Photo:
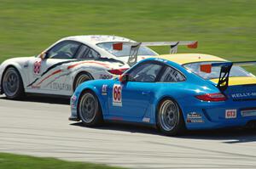
M156 63L145 63L138 65L129 72L130 82L155 82L156 77L160 73L163 65Z

